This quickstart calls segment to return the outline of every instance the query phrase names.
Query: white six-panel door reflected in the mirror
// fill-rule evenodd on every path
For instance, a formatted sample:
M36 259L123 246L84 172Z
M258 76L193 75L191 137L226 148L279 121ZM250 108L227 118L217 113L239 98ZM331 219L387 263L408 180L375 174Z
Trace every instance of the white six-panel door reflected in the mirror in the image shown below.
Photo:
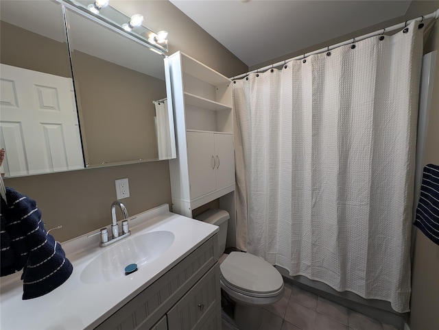
M7 176L84 168L71 78L1 64Z

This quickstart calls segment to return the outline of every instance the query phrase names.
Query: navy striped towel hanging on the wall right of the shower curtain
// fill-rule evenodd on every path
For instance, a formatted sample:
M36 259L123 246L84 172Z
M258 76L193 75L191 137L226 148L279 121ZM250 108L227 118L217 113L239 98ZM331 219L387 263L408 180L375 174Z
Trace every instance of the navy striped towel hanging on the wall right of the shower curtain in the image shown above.
M425 233L427 238L439 245L439 166L437 165L428 164L424 168L414 225Z

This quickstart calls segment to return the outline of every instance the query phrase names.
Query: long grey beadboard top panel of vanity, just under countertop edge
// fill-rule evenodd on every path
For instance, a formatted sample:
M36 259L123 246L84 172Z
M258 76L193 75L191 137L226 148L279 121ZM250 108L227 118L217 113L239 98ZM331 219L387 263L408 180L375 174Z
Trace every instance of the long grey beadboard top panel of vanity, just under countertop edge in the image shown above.
M217 234L95 329L150 329L218 259ZM172 329L172 328L171 328Z

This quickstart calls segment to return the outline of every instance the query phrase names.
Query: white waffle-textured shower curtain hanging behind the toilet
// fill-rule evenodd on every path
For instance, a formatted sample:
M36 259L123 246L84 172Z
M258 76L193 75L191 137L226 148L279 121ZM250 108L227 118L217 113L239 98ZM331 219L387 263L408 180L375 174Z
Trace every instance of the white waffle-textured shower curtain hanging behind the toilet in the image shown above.
M409 311L422 31L235 80L238 248Z

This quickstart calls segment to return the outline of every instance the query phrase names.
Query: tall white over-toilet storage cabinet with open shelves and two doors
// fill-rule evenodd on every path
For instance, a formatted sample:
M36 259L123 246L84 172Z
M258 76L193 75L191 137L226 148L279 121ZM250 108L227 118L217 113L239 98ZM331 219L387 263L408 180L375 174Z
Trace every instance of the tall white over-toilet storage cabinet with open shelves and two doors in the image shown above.
M165 70L177 140L177 158L169 160L172 210L192 218L196 207L235 191L232 86L180 51L165 59ZM234 214L232 204L223 208Z

